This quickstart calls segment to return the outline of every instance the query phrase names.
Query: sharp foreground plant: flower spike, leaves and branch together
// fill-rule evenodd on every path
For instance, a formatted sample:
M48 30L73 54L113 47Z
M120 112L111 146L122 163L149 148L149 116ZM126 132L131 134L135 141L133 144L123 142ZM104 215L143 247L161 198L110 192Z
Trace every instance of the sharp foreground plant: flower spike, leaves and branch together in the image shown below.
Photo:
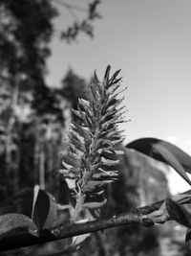
M102 208L109 198L105 193L106 185L117 180L118 155L123 154L121 146L123 137L121 131L117 129L117 124L123 122L121 116L124 107L120 106L122 99L118 97L119 93L117 92L121 79L117 78L119 71L110 76L110 69L108 66L102 82L98 81L95 74L95 79L90 86L89 100L79 99L76 109L73 109L77 118L72 122L67 141L64 144L66 147L62 155L64 168L58 171L59 177L64 178L69 188L67 203L57 203L51 194L42 189L45 180L40 183L41 188L34 187L32 210L29 217L15 212L0 216L3 226L0 234L1 250L8 249L8 245L13 248L21 244L41 244L68 237L73 237L72 245L74 248L78 248L79 244L96 230L130 223L139 223L150 227L156 223L171 220L188 227L186 241L190 242L190 191L127 213L117 212L117 216L109 219L101 216ZM74 81L77 79L74 78ZM53 94L49 95L53 96L56 109L63 115L63 108L59 105L60 100L64 99L61 90L60 93L59 90L53 90ZM49 107L47 108L49 109ZM49 110L48 115L46 112L36 111L32 113L30 121L28 120L30 125L33 124L33 128L37 128L34 134L36 136L34 149L35 153L37 152L37 159L34 157L34 160L37 160L37 165L39 165L40 177L45 177L47 170L51 172L54 169L53 163L48 161L51 157L49 159L47 156L52 155L53 157L53 151L50 154L49 150L57 143L59 146L63 145L63 140L60 140L63 137L59 132L64 128L64 118L60 119L57 115L58 112L52 111L52 106ZM19 120L17 122L19 124ZM20 122L20 124L26 126L29 125L28 122ZM26 130L29 132L28 128ZM33 131L34 129L32 129L32 133ZM139 151L170 165L190 184L186 173L190 172L191 158L174 145L155 138L142 138L129 143L126 148L126 151L130 149L134 150L134 153ZM61 148L54 149L58 151ZM46 161L45 155L47 155ZM120 156L120 159L122 157L124 156ZM51 165L52 167L48 167ZM45 167L47 168L46 174ZM59 169L59 164L57 167ZM141 171L142 169L139 172ZM111 186L108 193L110 192ZM62 220L59 219L60 211L64 215ZM123 232L123 239L129 237L126 236L126 229ZM104 243L100 237L97 237L97 241ZM140 236L139 244L141 243L146 242ZM121 253L126 253L130 249L129 247L122 248L120 243L116 245ZM104 248L101 248L100 251L104 251ZM147 251L146 248L145 251Z

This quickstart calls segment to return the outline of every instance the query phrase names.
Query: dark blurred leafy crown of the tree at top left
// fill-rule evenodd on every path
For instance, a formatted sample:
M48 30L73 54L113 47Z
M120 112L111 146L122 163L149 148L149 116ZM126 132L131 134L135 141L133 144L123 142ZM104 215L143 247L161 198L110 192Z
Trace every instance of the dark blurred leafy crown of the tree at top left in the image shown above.
M50 1L1 1L1 79L20 75L25 83L43 81L48 42L56 15ZM13 84L14 85L14 84Z

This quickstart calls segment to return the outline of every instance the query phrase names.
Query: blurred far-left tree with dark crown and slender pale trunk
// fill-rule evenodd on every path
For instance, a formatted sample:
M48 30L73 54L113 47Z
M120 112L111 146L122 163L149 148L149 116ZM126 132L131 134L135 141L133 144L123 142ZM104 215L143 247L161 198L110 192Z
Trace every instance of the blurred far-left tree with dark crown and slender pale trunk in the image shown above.
M16 191L19 185L21 126L18 105L26 100L24 92L31 91L33 94L37 86L45 86L45 61L50 55L48 42L53 34L52 19L55 14L46 0L21 0L19 3L8 0L0 3L0 83L9 99L9 105L3 109L7 114L1 116L1 121L2 128L6 128L5 177L10 180L10 192Z

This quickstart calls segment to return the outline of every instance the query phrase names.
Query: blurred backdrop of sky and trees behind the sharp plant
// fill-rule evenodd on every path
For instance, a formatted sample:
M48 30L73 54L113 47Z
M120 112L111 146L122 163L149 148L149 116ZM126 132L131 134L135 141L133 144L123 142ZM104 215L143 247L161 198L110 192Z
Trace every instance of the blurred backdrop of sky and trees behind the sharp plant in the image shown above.
M30 216L35 184L67 200L55 173L67 150L71 108L89 98L94 71L101 80L108 64L121 69L127 86L125 143L157 137L191 153L190 9L189 0L0 2L0 214ZM167 166L126 150L104 215L186 189ZM185 256L184 233L171 222L123 226L95 233L74 255ZM39 246L38 253L67 243Z

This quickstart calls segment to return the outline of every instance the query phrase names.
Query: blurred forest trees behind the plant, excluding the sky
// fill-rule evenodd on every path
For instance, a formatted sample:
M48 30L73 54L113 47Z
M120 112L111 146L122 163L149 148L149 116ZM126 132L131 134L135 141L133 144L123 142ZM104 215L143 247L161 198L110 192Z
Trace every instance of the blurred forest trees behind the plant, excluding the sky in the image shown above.
M70 12L76 9L70 4L58 3ZM84 19L74 21L60 33L63 47L79 33L94 35L94 20L100 17L98 4L99 1L90 2ZM56 29L53 17L57 14L49 0L0 2L1 214L29 215L35 184L51 192L60 203L69 200L67 184L57 171L62 154L67 151L68 126L74 119L71 108L76 108L78 98L89 98L91 81L85 81L70 69L56 88L46 84L46 61L51 55L49 43ZM168 169L161 164L156 168L156 165L154 160L126 149L119 167L119 180L108 187L109 200L102 216L115 215L169 196L164 175ZM164 240L169 236L174 240L171 245L177 253L173 255L186 255L180 243L181 229L178 239L174 228L173 224L167 224L162 230L134 225L113 228L103 234L97 232L74 255L171 255L165 254L165 243L170 242ZM67 241L39 245L38 252L43 253L47 246L49 252L55 248L63 250Z

